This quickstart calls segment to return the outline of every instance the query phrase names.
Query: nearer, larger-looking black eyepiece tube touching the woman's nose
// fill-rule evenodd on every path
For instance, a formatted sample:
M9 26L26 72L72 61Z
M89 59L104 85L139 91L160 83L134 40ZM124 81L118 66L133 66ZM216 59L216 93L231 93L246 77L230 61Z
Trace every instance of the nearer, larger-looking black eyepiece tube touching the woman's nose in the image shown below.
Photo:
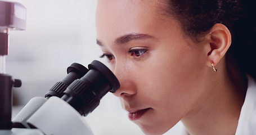
M83 116L91 113L107 92L120 87L115 75L100 61L92 61L88 68L88 73L71 83L61 97Z

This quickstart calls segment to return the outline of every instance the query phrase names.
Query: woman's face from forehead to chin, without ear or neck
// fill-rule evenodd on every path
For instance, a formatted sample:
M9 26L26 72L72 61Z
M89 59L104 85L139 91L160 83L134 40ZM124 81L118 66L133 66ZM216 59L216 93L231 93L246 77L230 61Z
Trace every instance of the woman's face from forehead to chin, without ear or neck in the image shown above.
M163 134L195 107L203 93L203 47L161 15L158 1L100 0L96 28L121 85L114 95L143 132Z

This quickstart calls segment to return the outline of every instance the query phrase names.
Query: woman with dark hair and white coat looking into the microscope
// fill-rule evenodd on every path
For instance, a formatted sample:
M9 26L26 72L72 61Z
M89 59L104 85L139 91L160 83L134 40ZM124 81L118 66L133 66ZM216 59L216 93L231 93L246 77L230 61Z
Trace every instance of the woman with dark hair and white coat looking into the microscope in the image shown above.
M97 43L121 85L114 95L145 134L164 134L179 121L187 134L253 133L256 38L247 18L238 19L240 5L98 1Z

